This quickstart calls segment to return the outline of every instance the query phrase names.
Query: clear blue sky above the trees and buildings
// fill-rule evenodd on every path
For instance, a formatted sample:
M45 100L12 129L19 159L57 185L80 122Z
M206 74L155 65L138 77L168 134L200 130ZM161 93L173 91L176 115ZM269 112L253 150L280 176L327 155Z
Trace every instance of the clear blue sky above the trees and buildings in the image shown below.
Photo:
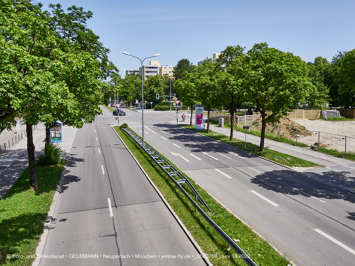
M38 0L42 9L76 5L94 13L88 27L110 49L109 60L120 69L138 69L144 59L173 65L183 58L193 64L229 45L267 42L302 60L313 61L337 51L355 49L355 1L121 1ZM149 60L144 64L149 64ZM124 75L122 71L122 76Z

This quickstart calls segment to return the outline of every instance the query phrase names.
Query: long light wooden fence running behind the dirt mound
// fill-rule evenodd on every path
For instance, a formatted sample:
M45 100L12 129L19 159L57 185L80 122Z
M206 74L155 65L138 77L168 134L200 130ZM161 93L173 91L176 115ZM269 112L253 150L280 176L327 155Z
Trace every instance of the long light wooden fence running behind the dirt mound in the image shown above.
M315 119L320 116L320 110L294 110L293 112L289 112L287 116L290 120L294 119ZM235 116L234 123L241 125L250 126L255 120L260 117L260 113L255 112L252 115L246 116ZM230 114L229 113L218 113L218 112L211 112L210 118L213 121L218 122L218 118L224 118L224 123L230 124Z

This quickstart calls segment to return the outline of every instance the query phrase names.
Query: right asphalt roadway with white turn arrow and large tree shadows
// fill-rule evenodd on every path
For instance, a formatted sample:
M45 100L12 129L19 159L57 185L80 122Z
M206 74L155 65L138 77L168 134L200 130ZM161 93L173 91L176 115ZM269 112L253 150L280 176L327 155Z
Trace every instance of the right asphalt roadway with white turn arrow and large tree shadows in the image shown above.
M142 113L126 114L141 134ZM176 113L144 121L147 142L296 265L355 265L353 193L177 127Z

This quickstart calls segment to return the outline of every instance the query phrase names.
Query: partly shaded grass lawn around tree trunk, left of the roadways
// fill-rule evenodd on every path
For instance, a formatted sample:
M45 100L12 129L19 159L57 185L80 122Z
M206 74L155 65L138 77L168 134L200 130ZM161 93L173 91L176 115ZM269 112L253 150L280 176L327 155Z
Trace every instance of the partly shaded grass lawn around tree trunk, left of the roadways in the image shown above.
M31 265L65 161L36 166L38 190L29 190L28 168L0 200L0 265ZM22 258L7 258L7 254Z

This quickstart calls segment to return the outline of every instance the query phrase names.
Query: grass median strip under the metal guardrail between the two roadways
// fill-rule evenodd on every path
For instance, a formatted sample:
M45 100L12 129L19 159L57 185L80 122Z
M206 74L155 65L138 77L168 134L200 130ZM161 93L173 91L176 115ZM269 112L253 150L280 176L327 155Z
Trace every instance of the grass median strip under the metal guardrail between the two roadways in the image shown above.
M196 212L189 200L176 188L175 184L166 176L160 167L144 153L140 146L118 126L114 128L140 162L144 171L146 171L148 176L164 195L165 199L192 234L193 238L201 246L204 253L208 255L213 265L246 265L241 258L238 258L233 249L228 250L228 244L214 231L204 218ZM163 157L182 173L170 160L165 156ZM232 239L240 240L237 244L246 254L250 254L250 257L258 266L287 266L289 264L289 261L275 251L264 239L260 238L249 227L228 212L228 210L215 201L205 190L195 184L190 177L186 176L186 174L184 174L184 176L194 184L197 192L215 213L214 216L211 216L213 221L230 235ZM182 184L182 186L186 191L190 191L186 184ZM190 195L193 196L192 193Z

